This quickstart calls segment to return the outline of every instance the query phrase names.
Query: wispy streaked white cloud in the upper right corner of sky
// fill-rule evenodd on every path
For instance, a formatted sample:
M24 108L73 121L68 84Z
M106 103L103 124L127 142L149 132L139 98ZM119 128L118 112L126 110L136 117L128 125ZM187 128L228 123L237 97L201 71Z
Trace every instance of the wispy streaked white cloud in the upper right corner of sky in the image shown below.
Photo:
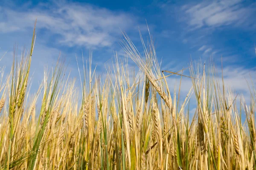
M192 28L219 26L250 26L254 24L255 4L244 5L241 0L204 1L181 8Z

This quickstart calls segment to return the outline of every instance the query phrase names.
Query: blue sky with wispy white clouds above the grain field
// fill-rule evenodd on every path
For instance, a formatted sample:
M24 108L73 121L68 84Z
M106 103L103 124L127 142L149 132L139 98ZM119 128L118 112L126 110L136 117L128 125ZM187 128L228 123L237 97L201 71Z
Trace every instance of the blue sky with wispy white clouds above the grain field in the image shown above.
M59 52L70 61L71 77L78 78L76 55L81 65L93 50L93 64L103 73L105 62L113 51L124 54L119 45L121 30L141 49L138 28L147 38L148 23L154 37L157 56L162 68L179 71L191 58L216 62L233 90L249 98L246 79L249 74L256 84L256 2L222 1L105 1L50 0L45 3L3 0L0 4L0 66L8 72L12 63L14 43L29 49L32 30L37 18L37 39L32 58L33 87L43 77L44 66L50 67ZM131 62L131 66L135 66ZM169 77L169 84L179 77ZM183 93L191 87L183 79ZM35 88L36 89L36 88Z

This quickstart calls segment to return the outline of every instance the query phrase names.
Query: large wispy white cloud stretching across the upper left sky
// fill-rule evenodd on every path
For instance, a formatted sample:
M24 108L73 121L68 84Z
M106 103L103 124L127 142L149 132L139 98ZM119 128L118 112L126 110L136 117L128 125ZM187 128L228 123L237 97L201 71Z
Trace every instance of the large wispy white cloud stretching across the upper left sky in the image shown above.
M111 46L118 40L120 29L129 31L136 25L136 17L124 12L74 3L59 3L49 9L44 4L23 11L0 8L0 32L27 31L34 26L58 34L59 43L70 47L87 48Z

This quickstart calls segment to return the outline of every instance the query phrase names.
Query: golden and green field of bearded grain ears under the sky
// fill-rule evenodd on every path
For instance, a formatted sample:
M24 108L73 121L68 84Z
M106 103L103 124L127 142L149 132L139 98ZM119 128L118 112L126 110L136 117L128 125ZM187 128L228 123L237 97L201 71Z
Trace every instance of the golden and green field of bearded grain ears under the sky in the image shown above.
M121 43L140 68L135 76L127 58L116 55L102 81L89 57L79 71L79 93L59 57L32 97L34 29L29 54L14 57L5 79L1 70L0 170L255 169L254 89L247 106L218 79L213 65L191 64L186 78L192 87L181 101L180 88L170 92L166 79L176 74L181 81L183 70L164 75L152 39L146 45L141 40L143 56L125 33ZM189 113L192 95L195 113Z

